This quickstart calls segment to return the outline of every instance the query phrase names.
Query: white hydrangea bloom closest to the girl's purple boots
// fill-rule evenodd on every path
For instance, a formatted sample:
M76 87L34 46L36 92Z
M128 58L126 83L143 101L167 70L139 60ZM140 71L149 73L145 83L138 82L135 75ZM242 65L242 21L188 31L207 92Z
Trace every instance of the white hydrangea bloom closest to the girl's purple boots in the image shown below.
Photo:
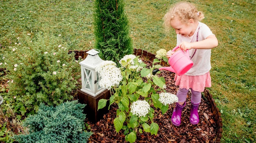
M159 101L164 105L178 102L178 97L168 92L162 92L159 94Z

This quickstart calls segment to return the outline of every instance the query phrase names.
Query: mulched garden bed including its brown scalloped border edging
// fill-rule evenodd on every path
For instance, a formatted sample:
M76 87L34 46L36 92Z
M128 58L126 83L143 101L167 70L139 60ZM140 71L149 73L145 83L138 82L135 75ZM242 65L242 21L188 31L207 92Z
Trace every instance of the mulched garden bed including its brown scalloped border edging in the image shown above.
M70 51L71 52L71 51ZM86 58L87 51L73 51L75 52L75 58L79 56ZM141 56L144 62L148 65L152 64L155 55L141 49L135 49L134 55ZM166 62L161 63L162 66L168 66ZM178 87L174 85L174 73L170 71L161 71L160 76L163 76L166 80L166 92L176 94ZM190 96L191 93L188 93ZM199 106L200 122L198 125L191 125L189 123L190 115L190 98L187 98L187 104L182 112L182 120L180 127L172 125L170 119L175 108L175 105L170 105L169 110L164 115L157 115L154 122L159 124L158 134L150 135L150 133L143 132L137 136L136 142L220 142L222 137L222 118L221 113L216 107L216 103L212 98L212 95L207 89L204 90L204 96L202 96L202 102ZM152 106L153 107L153 106ZM154 108L155 109L155 108ZM116 118L117 105L113 104L109 110L109 113L103 116L103 119L97 123L92 123L86 120L90 125L91 131L94 133L89 142L91 143L112 143L112 142L126 142L123 130L116 133L114 127L114 119ZM156 109L155 109L156 110ZM157 112L157 110L156 110Z

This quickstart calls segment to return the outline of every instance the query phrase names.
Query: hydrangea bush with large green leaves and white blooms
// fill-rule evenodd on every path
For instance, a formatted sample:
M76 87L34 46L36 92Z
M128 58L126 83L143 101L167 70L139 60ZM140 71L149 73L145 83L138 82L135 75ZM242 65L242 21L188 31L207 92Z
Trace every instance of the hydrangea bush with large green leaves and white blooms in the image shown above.
M110 63L110 61L106 62ZM166 102L160 102L165 100L163 98L160 99L158 94L158 92L162 92L166 88L165 79L152 75L152 71L155 68L161 67L157 64L160 62L160 60L154 59L153 66L148 69L145 68L146 64L139 59L139 56L126 55L119 61L121 68L117 68L114 64L103 64L109 67L105 68L105 70L102 70L102 66L98 67L98 69L101 69L97 70L100 75L101 72L108 74L107 77L101 77L101 80L104 82L120 77L119 72L117 74L113 70L119 71L118 69L120 69L121 71L122 78L119 80L120 84L113 82L108 86L112 87L112 93L114 93L110 97L110 105L117 103L119 108L117 109L117 117L114 119L114 126L117 132L121 129L125 130L126 141L135 142L137 132L142 133L143 130L151 133L151 135L157 135L159 126L157 123L154 123L153 118L158 113L155 114L155 110L150 105L153 103L154 107L160 108L160 111L164 114L169 108L169 105L166 103L176 102L171 100L172 98L166 98ZM143 81L143 78L146 81ZM155 89L154 87L156 86L159 88ZM105 107L106 103L107 100L105 99L99 100L98 109Z

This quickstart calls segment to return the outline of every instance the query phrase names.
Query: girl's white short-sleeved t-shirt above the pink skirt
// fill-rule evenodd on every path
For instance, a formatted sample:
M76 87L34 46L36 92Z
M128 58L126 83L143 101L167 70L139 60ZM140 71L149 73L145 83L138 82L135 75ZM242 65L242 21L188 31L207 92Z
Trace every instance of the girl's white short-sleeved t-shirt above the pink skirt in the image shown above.
M198 33L198 41L202 41L206 39L210 35L214 35L210 28L201 23L198 22L197 29L195 33L191 37L184 37L180 34L177 34L177 45L179 45L181 42L196 42L197 41L197 33ZM200 29L199 29L200 27ZM199 31L198 31L199 29ZM196 49L190 49L189 55L192 57ZM197 49L195 55L191 59L193 61L192 68L185 73L185 75L190 76L197 76L197 75L203 75L210 71L211 69L211 49Z

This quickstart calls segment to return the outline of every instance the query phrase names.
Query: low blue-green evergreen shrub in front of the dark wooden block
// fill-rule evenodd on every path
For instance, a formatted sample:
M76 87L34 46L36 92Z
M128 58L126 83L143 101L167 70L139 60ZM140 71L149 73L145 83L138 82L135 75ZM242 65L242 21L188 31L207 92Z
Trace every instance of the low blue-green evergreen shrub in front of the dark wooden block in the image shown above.
M27 135L15 135L19 143L86 143L93 134L85 130L83 108L77 101L65 102L56 107L40 104L37 114L24 121Z

